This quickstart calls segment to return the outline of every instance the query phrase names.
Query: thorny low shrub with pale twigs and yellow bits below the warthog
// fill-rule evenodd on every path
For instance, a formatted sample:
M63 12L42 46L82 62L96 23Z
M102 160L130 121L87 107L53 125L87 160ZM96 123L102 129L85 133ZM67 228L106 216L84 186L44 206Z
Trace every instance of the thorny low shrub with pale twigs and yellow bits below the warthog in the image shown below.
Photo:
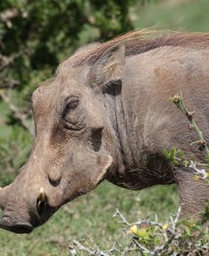
M205 221L209 220L208 211ZM111 256L111 255L202 255L209 253L209 228L207 225L196 223L193 220L179 220L180 208L176 216L170 215L166 223L157 220L139 220L129 223L118 209L114 216L118 216L124 225L124 244L112 238L112 246L97 246L93 241L71 240L69 244L69 255L78 253L85 255ZM205 217L203 217L204 219ZM205 222L206 223L206 222ZM83 255L83 254L82 254Z

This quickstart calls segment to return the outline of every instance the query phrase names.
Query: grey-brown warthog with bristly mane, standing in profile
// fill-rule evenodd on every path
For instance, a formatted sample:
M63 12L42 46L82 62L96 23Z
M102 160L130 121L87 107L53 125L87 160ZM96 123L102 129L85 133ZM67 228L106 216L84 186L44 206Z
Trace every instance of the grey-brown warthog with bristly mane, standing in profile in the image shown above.
M197 218L209 187L162 153L176 146L202 160L168 101L179 92L209 141L209 34L132 31L77 50L33 93L36 138L0 190L0 227L29 233L103 180L132 190L177 183L182 214Z

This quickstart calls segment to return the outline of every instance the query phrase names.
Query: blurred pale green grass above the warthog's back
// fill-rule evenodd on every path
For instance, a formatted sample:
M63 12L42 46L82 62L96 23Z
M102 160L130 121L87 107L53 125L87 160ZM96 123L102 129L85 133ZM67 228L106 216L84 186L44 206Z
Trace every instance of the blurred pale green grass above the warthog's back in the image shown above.
M208 32L208 0L153 0L135 8L135 28L159 25L162 29Z

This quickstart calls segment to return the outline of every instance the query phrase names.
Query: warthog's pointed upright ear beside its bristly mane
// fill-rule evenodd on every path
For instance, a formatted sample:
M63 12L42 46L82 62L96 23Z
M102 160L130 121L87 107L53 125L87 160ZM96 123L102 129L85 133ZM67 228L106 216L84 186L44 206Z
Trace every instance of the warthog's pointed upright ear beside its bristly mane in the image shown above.
M123 42L107 49L91 68L91 84L104 86L110 81L121 80L125 64L124 53Z

